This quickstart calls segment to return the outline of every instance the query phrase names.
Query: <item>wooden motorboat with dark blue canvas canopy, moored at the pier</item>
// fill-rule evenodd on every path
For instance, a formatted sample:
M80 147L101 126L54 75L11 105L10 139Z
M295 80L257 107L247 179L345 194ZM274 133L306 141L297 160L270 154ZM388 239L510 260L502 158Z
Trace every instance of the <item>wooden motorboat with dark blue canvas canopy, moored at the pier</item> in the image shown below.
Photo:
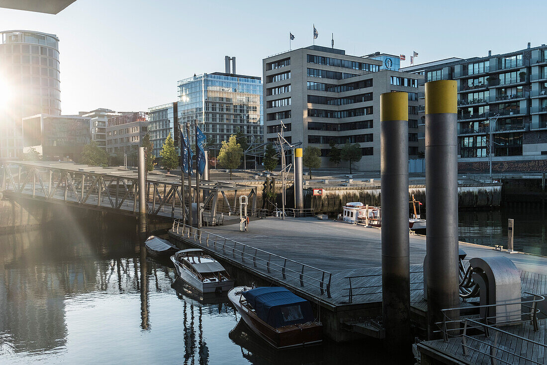
M319 344L322 325L309 301L283 287L235 287L228 299L243 321L276 349Z

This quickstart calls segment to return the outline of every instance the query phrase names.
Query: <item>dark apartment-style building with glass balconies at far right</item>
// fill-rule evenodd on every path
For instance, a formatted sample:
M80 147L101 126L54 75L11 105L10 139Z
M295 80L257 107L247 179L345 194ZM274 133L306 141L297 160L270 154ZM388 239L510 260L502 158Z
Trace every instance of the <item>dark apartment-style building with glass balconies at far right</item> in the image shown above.
M458 85L458 169L547 170L547 46L402 69ZM423 116L424 94L420 93ZM490 138L492 134L492 139ZM422 135L423 138L423 135ZM492 156L489 156L492 145Z

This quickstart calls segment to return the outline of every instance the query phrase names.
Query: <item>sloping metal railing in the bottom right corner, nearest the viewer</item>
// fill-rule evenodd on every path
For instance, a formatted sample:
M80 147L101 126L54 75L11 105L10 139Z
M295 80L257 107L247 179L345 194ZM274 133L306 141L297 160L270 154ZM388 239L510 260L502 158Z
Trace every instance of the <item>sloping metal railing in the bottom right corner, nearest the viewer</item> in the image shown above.
M516 335L516 334L513 334L513 333L510 333L510 332L507 332L507 331L504 331L502 329L499 329L497 327L493 327L493 326L489 326L488 324L484 324L484 323L480 323L478 321L474 321L474 320L470 320L469 318L465 318L463 321L461 321L463 323L463 333L462 333L462 350L463 350L463 355L464 356L468 356L468 349L469 350L473 350L473 351L476 351L476 352L479 352L479 353L482 353L484 355L487 355L490 357L490 360L492 363L495 363L494 360L498 360L498 361L501 361L503 363L506 363L506 364L513 364L514 361L511 361L511 362L508 362L508 361L505 361L503 360L502 358L499 358L497 357L496 355L496 352L499 350L499 351L502 351L502 352L506 352L506 353L509 353L510 355L512 355L513 357L519 357L523 360L526 360L526 361L529 361L529 362L532 362L534 364L542 364L540 362L537 362L537 361L534 361L532 360L532 358L528 358L528 357L524 357L524 356L521 356L517 353L514 353L514 352L511 352L511 351L508 351L506 349L504 349L503 347L500 347L500 346L497 346L497 340L498 340L498 334L499 333L503 333L505 335L508 335L509 337L511 338L515 338L515 339L518 339L518 340L521 340L521 341L525 341L529 344L532 344L532 345L538 345L538 346L542 346L544 347L545 349L547 349L547 345L546 344L542 344L542 343L539 343L539 342L536 342L534 340L531 340L531 339L527 339L525 337L521 337L519 335ZM486 334L486 337L489 337L488 335L488 329L490 330L493 330L494 332L496 332L496 335L494 336L494 340L491 342L491 343L488 343L486 341L481 341L477 338L474 338L474 337L471 337L469 335L467 335L467 329L468 329L468 322L470 323L474 323L474 324L477 324L478 326L475 326L475 327L470 327L470 328L484 328L485 329L485 334ZM484 345L487 345L487 346L490 346L490 351L489 352L484 352L484 351L480 351L480 347L479 349L475 349L474 347L472 346L469 346L467 345L467 340L473 340L473 341L477 341L479 342L480 344L484 344ZM527 353L534 353L534 351L527 351Z

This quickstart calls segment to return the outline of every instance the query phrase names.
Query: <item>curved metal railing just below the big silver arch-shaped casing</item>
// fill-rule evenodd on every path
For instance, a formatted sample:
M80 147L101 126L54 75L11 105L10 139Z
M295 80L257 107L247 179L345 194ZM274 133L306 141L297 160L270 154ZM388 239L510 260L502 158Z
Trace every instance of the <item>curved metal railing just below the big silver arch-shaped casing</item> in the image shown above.
M482 323L481 326L487 326L487 327L492 327L493 326L506 326L508 324L518 324L518 323L524 323L524 322L530 322L531 325L533 326L534 328L534 331L537 331L539 329L539 324L538 324L538 313L539 313L539 309L537 307L537 304L538 302L540 301L543 301L545 300L545 296L543 295L539 295L539 294L533 294L533 293L528 293L528 292L524 292L523 294L528 294L528 295L531 295L533 296L534 298L537 298L537 299L531 299L531 300L519 300L519 301L513 301L513 302L510 302L510 303L501 303L501 304L486 304L486 305L475 305L472 307L472 309L481 309L481 308L484 308L485 311L484 311L484 316L482 316L481 320L482 320ZM530 311L529 312L525 312L525 313L519 313L519 314L516 314L515 313L510 313L509 315L497 315L497 316L488 316L488 313L490 313L491 309L496 309L497 307L503 307L503 306L509 306L509 305L521 305L522 307L526 307L526 308L529 308ZM531 305L526 305L526 304L531 304ZM451 323L461 323L461 320L452 320L448 315L447 315L447 312L451 312L451 311L460 311L460 310L469 310L470 307L469 306L466 306L466 307L456 307L456 308L448 308L448 309L441 309L441 312L443 313L443 322L435 322L435 324L437 324L437 326L439 326L440 329L438 330L434 330L433 332L434 333L439 333L439 332L442 332L443 333L443 338L444 338L444 341L445 342L448 342L448 338L449 338L449 332L450 331L459 331L461 330L461 328L457 327L457 328L449 328L450 327L450 324ZM511 320L510 318L511 317L515 317L515 316L519 316L519 320ZM522 317L526 317L528 316L529 318L528 319L522 319ZM509 317L509 318L508 318ZM499 322L499 323L493 323L494 321L502 321L503 318L508 318L507 321L503 321L503 322ZM468 319L468 318L465 318L465 319ZM488 328L485 328L485 333L486 333L486 337L489 337L490 334L488 333Z

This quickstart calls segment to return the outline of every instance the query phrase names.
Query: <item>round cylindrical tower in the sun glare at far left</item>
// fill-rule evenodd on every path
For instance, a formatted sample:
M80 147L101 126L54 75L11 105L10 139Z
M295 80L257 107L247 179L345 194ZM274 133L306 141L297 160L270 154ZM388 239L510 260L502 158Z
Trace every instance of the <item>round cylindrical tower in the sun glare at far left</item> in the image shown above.
M22 118L61 114L59 38L34 31L0 32L0 158L22 152Z

